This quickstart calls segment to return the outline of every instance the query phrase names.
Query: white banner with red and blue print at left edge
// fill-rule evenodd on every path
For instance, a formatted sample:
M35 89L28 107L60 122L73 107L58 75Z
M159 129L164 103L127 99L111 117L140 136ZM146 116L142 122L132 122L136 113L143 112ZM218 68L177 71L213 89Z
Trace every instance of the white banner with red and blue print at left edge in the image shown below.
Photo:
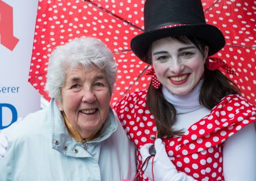
M0 129L40 109L28 82L38 1L0 0Z

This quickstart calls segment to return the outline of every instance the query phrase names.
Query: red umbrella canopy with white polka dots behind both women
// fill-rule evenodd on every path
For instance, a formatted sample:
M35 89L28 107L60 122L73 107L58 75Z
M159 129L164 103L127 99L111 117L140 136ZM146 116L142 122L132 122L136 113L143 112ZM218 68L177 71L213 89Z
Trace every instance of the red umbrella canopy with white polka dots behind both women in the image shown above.
M113 51L118 74L111 105L124 94L145 89L148 65L130 48L131 39L143 32L145 1L40 0L36 18L29 82L49 100L44 91L49 55L65 42L81 36L102 40ZM227 62L237 75L227 75L252 103L256 103L256 1L202 1L208 24L223 32L226 46L213 57Z

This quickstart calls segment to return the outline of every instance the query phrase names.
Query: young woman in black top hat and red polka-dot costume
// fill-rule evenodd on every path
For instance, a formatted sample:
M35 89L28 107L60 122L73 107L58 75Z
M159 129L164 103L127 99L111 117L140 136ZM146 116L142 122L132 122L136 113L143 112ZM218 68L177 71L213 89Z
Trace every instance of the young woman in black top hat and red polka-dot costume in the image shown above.
M225 39L205 23L201 1L147 0L144 20L131 48L152 64L152 82L115 105L140 180L256 180L256 106L218 68L234 71L210 57Z

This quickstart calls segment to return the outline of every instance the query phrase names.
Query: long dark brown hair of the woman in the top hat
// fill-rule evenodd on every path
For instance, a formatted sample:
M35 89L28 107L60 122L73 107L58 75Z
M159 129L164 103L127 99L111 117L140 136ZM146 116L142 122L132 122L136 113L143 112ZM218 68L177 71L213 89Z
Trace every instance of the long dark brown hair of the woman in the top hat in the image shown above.
M204 55L204 57L206 56L204 50L207 45L204 41L189 36L179 36L174 37L174 39L185 44L193 43L198 50L200 50L202 55ZM148 48L145 59L152 62L151 47ZM229 80L227 76L223 75L218 69L214 71L205 69L204 81L199 96L200 103L204 105L205 108L211 110L222 98L229 94L240 94L236 84ZM161 87L155 89L150 83L147 92L147 106L148 110L154 115L158 138L173 135L180 136L184 133L183 130L173 129L173 124L176 121L176 110L174 106L164 98Z

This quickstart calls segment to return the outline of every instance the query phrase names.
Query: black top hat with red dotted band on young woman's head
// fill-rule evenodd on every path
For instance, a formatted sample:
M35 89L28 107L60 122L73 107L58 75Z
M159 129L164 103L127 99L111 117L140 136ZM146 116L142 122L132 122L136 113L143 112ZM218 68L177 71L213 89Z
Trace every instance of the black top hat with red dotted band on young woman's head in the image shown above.
M131 48L145 62L144 57L151 43L168 36L198 37L209 46L208 56L225 45L220 29L206 24L200 0L147 0L144 23L144 33L132 38Z

